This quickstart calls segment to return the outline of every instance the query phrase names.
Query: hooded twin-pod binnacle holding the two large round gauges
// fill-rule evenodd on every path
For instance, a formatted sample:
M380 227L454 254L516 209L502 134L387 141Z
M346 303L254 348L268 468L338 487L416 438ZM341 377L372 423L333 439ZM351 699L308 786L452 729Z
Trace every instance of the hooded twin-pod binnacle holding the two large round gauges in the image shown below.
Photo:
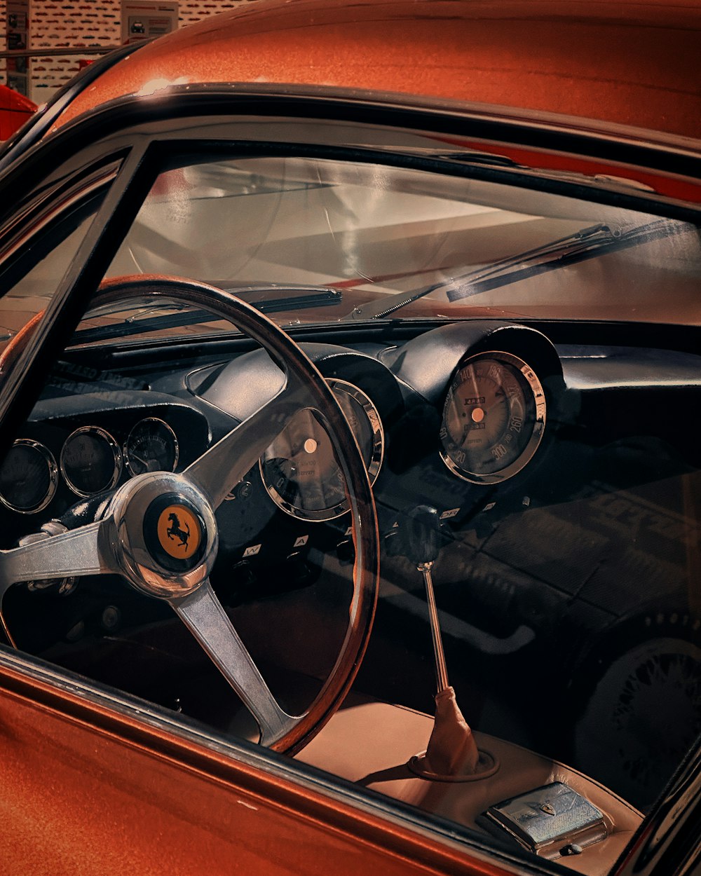
M509 326L498 338L491 329L452 324L375 350L302 344L350 422L387 519L417 495L441 512L459 512L467 491L513 478L542 446L560 369L556 350L531 329ZM280 389L280 379L269 358L252 351L192 372L188 386L242 421ZM348 511L341 467L310 408L294 413L251 476L251 484L262 482L262 500L248 507L260 505L261 519L270 501L299 522Z

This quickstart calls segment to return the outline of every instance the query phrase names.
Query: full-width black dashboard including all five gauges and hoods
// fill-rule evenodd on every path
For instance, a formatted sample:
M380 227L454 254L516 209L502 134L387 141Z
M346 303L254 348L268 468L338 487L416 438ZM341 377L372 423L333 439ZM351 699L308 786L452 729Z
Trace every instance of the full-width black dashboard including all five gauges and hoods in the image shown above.
M538 329L489 321L443 325L397 344L301 345L350 421L380 526L390 529L417 500L459 527L490 502L503 516L513 497L523 509L571 498L577 487L605 491L612 472L591 470L595 457L604 465L598 451L620 456L631 442L636 463L647 446L648 465L667 465L670 475L698 463L688 431L650 415L657 397L667 408L674 399L678 409L680 397L697 404L701 358L690 353L556 346ZM144 471L184 470L282 386L263 350L202 358L173 367L154 353L151 364L120 371L60 364L0 470L8 540ZM640 464L628 474L641 483L650 477ZM617 477L623 484L625 471ZM273 520L307 534L314 524L343 529L343 477L310 409L295 413L231 486L222 513L233 519L222 528L238 554L251 547L247 533ZM245 505L248 525L231 513L236 505Z

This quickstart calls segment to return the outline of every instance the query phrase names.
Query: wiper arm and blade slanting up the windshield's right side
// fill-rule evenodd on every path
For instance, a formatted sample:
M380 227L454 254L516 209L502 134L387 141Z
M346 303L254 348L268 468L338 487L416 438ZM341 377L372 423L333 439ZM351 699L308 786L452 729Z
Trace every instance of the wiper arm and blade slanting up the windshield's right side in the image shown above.
M348 318L380 319L434 292L446 293L451 302L463 300L500 286L516 283L535 274L605 255L606 252L624 250L629 246L648 243L659 237L681 234L687 228L685 223L669 219L655 219L644 225L628 228L612 228L605 223L590 225L548 244L501 258L477 271L450 280L440 280L421 289L400 292L388 298L371 301L367 305L356 307Z

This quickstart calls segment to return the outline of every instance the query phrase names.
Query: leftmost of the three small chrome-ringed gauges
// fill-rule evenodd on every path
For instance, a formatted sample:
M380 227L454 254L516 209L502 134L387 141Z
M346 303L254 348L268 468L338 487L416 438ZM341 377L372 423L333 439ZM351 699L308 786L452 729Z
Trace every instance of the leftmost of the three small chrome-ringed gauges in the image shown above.
M20 514L46 508L56 492L59 469L43 444L18 438L0 468L0 501Z

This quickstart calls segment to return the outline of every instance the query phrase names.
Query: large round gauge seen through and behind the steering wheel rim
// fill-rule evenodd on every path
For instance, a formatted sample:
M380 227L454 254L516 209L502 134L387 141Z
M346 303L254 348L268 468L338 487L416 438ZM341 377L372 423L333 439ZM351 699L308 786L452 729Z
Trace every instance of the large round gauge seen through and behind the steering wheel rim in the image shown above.
M365 392L344 380L329 380L358 442L371 483L379 473L385 438L377 408ZM304 520L330 520L348 511L345 479L326 429L304 409L260 460L260 472L273 501Z

